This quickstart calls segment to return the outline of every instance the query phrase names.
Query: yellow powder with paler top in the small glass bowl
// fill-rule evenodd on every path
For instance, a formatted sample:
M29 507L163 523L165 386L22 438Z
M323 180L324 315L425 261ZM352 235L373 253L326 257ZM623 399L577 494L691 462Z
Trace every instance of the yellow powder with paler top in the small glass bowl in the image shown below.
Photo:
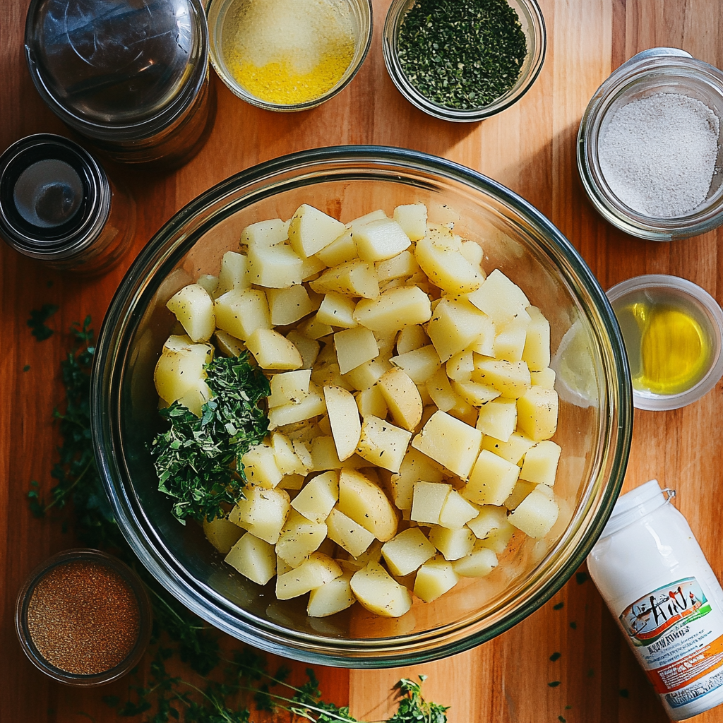
M239 0L223 23L223 60L247 93L295 105L328 93L354 57L346 0Z

